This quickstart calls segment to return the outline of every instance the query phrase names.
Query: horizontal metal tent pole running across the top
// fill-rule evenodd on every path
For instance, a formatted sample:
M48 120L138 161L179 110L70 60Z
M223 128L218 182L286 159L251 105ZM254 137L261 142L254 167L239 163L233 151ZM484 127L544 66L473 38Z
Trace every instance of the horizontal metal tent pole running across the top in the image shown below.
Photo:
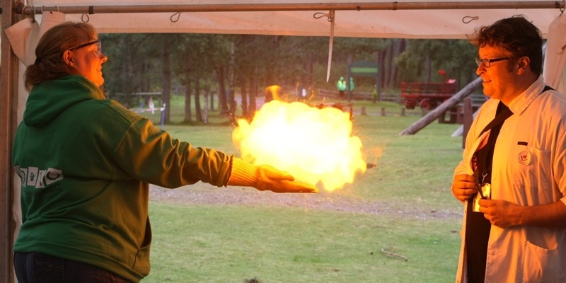
M558 8L565 1L478 1L478 2L379 2L379 3L289 3L289 4L197 4L197 5L117 5L117 6L18 6L16 13L40 14L42 11L62 13L178 13L238 11L362 11L362 10L444 10Z

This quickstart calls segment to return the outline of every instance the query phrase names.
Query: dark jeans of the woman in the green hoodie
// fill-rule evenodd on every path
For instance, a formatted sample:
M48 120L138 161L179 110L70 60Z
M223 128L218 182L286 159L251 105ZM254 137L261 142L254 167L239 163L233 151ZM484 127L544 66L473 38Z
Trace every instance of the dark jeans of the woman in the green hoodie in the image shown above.
M14 253L19 283L131 283L103 268L57 258L45 253Z

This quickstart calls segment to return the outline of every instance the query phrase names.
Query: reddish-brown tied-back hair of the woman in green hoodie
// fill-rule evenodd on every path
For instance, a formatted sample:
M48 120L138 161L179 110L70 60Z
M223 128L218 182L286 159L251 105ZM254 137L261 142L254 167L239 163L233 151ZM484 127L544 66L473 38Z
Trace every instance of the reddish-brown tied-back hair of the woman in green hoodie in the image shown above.
M89 23L65 22L45 32L35 48L35 62L25 69L25 88L30 89L43 81L79 74L63 61L66 50L98 38L96 29Z

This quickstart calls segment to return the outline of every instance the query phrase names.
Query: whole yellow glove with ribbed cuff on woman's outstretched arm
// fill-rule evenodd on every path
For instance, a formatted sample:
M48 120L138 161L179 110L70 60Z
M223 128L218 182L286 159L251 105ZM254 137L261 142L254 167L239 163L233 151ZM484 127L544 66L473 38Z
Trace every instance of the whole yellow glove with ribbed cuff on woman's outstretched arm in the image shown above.
M295 178L289 173L279 171L272 166L255 166L234 157L228 185L255 187L258 190L272 192L318 192L315 186L294 180Z

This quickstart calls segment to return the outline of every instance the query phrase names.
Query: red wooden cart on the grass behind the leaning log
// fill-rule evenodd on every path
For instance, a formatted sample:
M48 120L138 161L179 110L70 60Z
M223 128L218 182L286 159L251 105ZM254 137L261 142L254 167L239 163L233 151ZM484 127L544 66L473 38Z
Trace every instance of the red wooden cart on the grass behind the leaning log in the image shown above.
M447 83L402 81L400 88L401 103L407 109L415 109L415 106L419 105L424 110L432 110L458 92L456 80Z

